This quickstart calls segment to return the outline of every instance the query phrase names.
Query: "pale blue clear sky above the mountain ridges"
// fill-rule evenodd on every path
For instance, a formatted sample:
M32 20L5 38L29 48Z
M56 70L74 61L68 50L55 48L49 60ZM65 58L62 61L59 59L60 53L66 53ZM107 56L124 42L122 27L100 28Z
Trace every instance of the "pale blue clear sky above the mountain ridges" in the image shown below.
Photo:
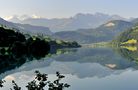
M0 0L0 17L35 14L62 18L95 12L138 17L138 0Z

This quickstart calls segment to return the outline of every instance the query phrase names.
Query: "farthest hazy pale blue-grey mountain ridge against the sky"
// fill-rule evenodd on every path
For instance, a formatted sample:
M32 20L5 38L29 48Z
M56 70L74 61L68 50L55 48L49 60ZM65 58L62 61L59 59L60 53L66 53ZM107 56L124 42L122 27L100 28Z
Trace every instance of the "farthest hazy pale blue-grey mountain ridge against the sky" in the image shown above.
M23 23L23 24L37 25L37 26L46 26L49 27L50 30L58 32L58 31L72 31L80 28L86 28L86 29L96 28L99 25L102 25L110 20L126 20L126 19L118 15L107 15L103 13L96 13L96 14L79 13L73 17L62 18L62 19L26 18L24 20L18 20L17 17L13 17L9 21Z

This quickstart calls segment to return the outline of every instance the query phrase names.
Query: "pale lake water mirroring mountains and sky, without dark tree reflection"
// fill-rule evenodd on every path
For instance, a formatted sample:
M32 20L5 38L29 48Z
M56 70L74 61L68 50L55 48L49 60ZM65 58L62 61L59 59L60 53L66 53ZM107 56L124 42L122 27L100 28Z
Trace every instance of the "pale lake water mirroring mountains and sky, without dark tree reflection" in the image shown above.
M35 70L47 73L49 80L55 80L56 71L64 74L63 82L71 85L65 90L138 90L137 60L138 53L133 48L59 50L56 54L2 73L0 78L7 82L1 90L9 90L11 80L26 90Z

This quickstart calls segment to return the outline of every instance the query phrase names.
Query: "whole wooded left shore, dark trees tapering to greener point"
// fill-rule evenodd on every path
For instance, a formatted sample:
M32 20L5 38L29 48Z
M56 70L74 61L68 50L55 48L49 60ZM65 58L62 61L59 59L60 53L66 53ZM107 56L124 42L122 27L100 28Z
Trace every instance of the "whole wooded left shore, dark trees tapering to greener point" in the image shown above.
M0 27L0 47L5 47L0 50L1 53L43 55L44 52L47 54L53 48L72 48L80 47L80 45L75 41L67 42L52 40L45 36L24 35L19 31Z

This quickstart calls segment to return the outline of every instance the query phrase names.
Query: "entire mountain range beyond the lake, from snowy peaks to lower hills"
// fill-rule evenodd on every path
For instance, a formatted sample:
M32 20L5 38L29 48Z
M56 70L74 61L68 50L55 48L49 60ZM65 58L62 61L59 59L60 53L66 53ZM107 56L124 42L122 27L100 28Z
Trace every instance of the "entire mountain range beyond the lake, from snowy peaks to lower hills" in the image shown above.
M14 23L9 21L13 21ZM46 19L37 16L34 18L29 16L24 16L23 18L12 17L9 21L1 18L0 24L16 28L25 33L41 33L49 35L52 38L77 41L81 44L111 41L121 32L138 23L138 19L130 21L118 15L102 13L79 13L74 17L62 19Z

